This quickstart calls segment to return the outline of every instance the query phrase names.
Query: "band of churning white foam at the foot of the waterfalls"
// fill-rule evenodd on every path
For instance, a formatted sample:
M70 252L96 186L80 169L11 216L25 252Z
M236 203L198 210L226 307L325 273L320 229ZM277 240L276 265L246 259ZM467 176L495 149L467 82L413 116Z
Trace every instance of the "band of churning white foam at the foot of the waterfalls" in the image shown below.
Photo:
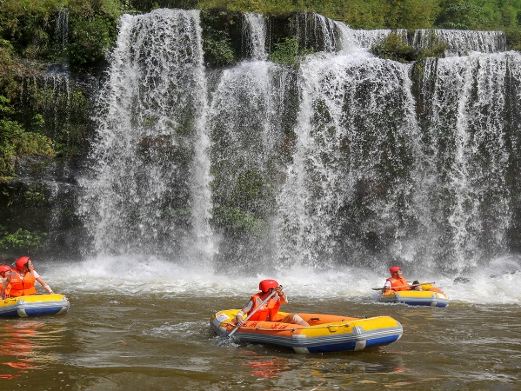
M178 265L158 258L97 257L80 262L42 263L40 274L57 291L100 294L158 294L165 297L244 297L257 290L260 280L274 278L284 286L288 297L359 300L372 302L383 286L385 267L376 269L339 266L317 271L294 266L280 272L237 275L233 267L213 273L200 266ZM486 267L461 276L436 273L408 273L422 282L435 281L452 301L476 304L521 304L521 262L499 258ZM420 275L421 274L421 275ZM463 280L463 277L466 280ZM456 280L456 281L455 281Z

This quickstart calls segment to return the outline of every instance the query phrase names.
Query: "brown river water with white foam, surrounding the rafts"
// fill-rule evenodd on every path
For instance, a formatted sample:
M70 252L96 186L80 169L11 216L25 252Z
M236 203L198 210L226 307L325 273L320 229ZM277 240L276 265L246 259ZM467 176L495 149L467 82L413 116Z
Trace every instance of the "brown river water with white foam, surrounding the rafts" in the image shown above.
M103 263L102 263L103 261ZM290 311L390 315L404 334L376 350L301 355L213 335L212 313L239 307L264 275L230 277L161 260L41 264L71 310L0 324L0 389L519 390L520 273L440 279L449 307L380 304L384 276L291 270ZM65 273L68 274L65 274ZM305 277L305 278L304 278ZM464 293L465 292L465 293Z

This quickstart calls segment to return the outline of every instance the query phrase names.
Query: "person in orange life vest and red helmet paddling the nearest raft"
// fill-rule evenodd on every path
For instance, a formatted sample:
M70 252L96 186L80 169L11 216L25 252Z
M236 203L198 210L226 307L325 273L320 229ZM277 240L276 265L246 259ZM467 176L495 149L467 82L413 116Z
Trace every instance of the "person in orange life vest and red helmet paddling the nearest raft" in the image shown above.
M251 318L251 321L268 321L268 322L282 322L294 323L301 326L309 326L309 323L302 319L297 314L287 314L281 316L278 314L279 308L282 304L286 304L288 299L286 294L282 291L282 287L275 280L262 280L259 283L260 292L254 294L248 304L246 304L236 315L235 320L237 325L242 326L248 316L256 311ZM267 303L261 308L257 309L267 297L273 292L277 292Z

